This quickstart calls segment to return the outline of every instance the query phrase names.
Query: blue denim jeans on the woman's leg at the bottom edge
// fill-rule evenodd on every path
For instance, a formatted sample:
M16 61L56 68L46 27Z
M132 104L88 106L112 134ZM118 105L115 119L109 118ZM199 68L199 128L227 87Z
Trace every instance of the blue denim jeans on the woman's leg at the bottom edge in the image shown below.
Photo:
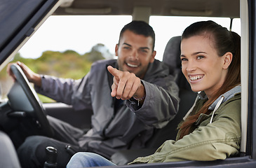
M81 168L81 167L101 167L101 166L115 166L101 155L96 153L79 152L72 156L67 164L67 168Z

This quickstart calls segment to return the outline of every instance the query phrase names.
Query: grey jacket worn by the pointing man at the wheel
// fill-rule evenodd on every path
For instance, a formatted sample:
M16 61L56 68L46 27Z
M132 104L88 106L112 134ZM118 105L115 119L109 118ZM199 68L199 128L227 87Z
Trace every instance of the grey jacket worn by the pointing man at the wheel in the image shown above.
M110 156L120 149L142 148L154 128L165 126L178 108L178 87L169 67L154 60L142 80L146 98L142 106L126 100L114 111L116 98L111 96L113 76L107 66L117 67L115 59L95 62L90 72L79 80L42 76L36 92L74 109L93 109L92 129L79 139L88 151Z

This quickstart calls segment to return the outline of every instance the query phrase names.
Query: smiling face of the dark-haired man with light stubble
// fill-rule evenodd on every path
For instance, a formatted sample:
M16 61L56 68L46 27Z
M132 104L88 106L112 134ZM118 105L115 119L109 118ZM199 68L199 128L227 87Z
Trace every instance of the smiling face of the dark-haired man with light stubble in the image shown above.
M115 49L119 70L129 71L139 78L144 78L149 62L154 62L156 55L152 48L153 39L150 36L134 34L130 30L124 31Z

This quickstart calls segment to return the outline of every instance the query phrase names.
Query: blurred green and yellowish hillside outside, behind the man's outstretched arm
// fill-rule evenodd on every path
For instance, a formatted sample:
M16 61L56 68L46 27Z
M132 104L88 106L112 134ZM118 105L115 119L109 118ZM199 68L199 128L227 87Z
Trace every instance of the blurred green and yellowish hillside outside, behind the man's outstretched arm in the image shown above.
M37 59L23 58L18 53L12 62L23 62L36 73L79 79L85 76L90 71L91 64L99 59L105 59L105 57L102 57L102 53L95 50L84 55L79 55L73 50L66 50L65 52L46 51ZM10 90L11 83L13 83L11 77L6 73L6 68L0 72L0 83L3 97L6 97L5 94ZM53 101L41 95L39 97L42 102Z

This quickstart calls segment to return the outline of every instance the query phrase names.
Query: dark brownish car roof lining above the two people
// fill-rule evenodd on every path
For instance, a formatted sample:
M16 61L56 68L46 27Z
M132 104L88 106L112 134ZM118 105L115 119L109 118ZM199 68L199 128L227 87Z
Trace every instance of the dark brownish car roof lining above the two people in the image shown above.
M133 15L135 7L146 7L151 15L239 18L239 5L239 0L66 0L53 14Z

